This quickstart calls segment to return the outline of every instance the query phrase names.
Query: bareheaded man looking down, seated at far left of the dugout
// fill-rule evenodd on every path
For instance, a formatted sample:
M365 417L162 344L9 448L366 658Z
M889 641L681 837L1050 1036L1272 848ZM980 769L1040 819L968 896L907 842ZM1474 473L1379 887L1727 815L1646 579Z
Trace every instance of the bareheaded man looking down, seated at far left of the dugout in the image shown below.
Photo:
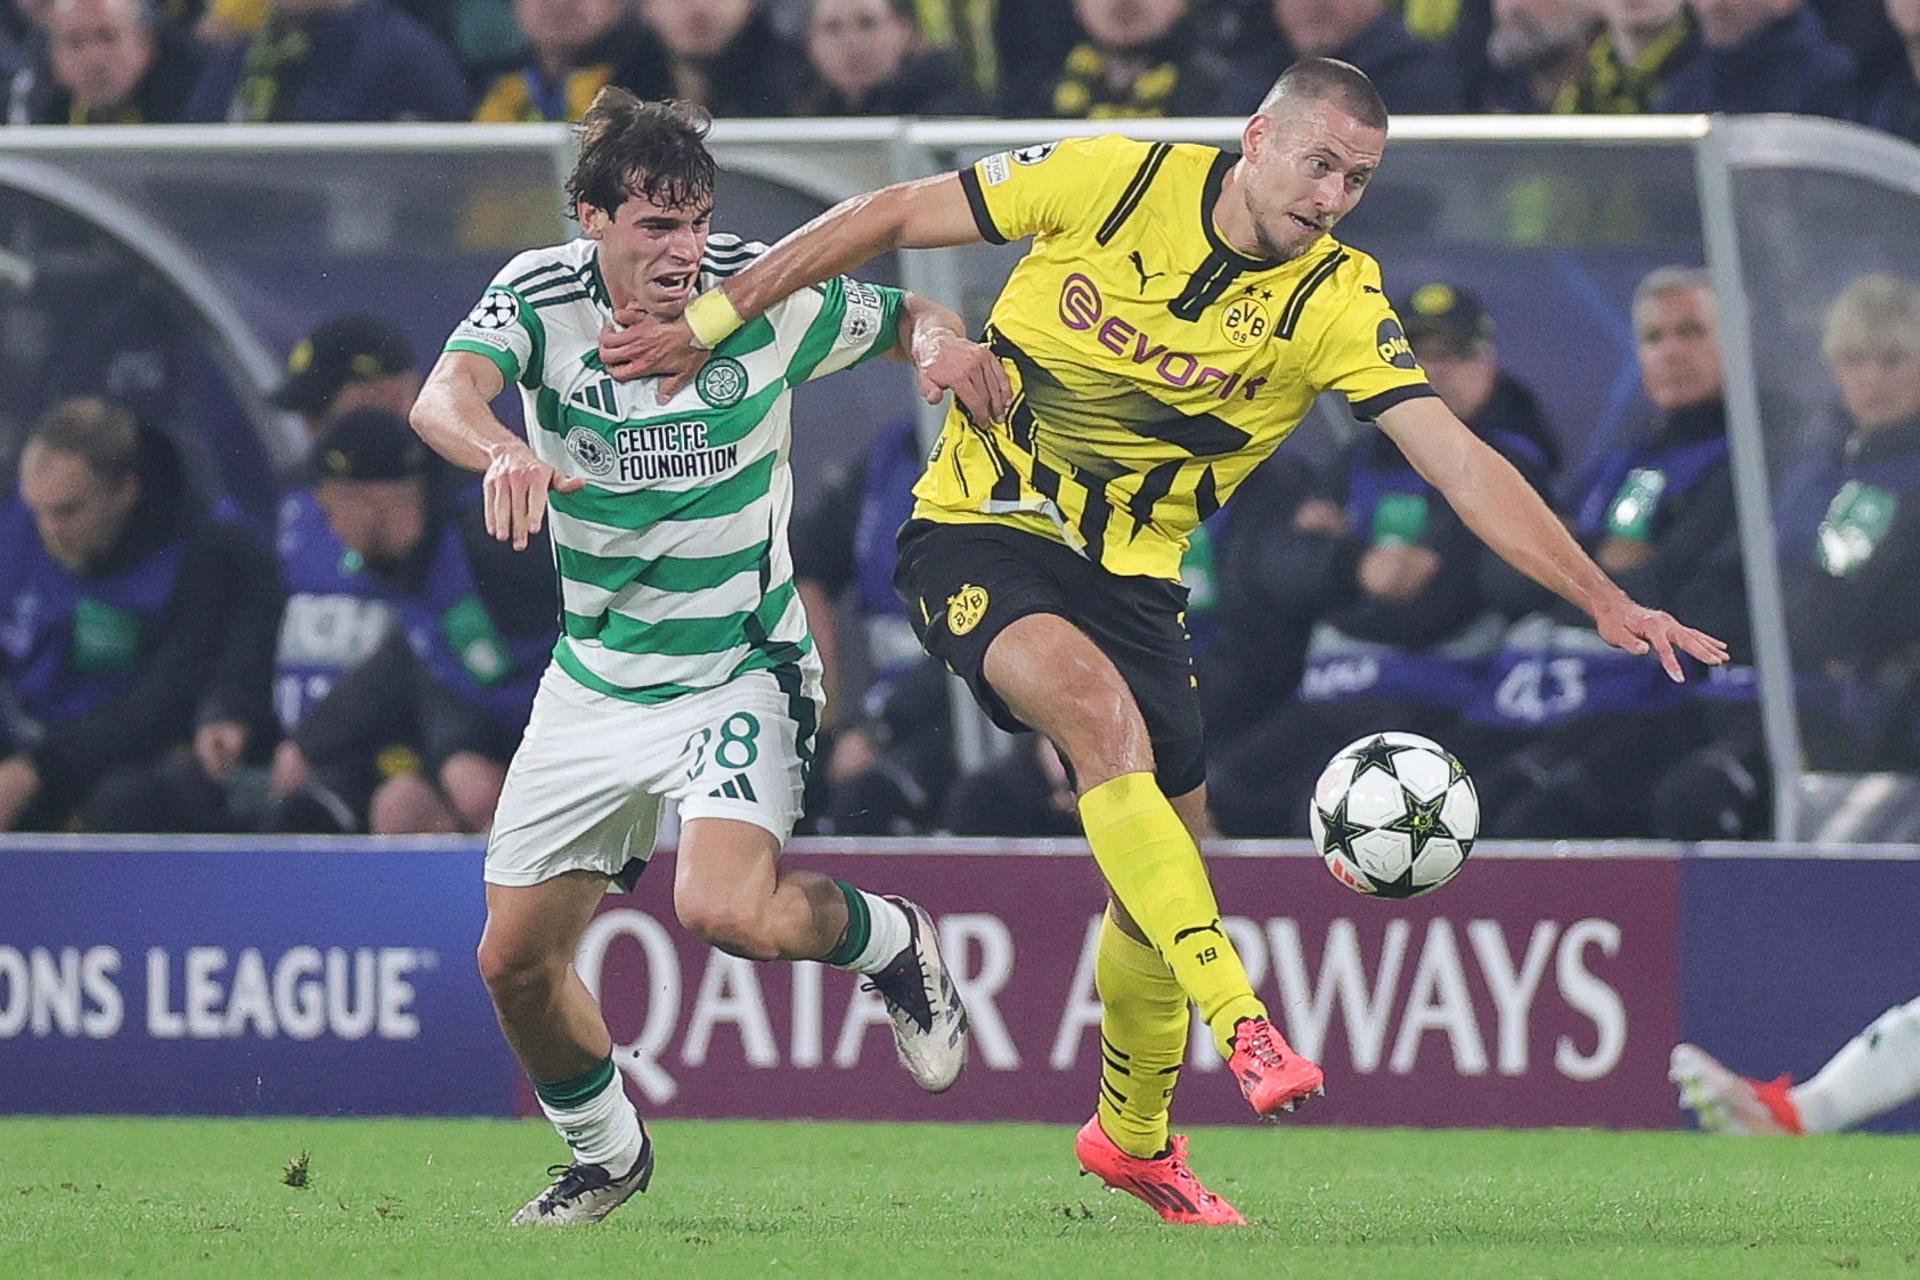
M29 430L0 610L0 831L152 829L156 760L223 775L261 748L273 562L119 405L61 401Z

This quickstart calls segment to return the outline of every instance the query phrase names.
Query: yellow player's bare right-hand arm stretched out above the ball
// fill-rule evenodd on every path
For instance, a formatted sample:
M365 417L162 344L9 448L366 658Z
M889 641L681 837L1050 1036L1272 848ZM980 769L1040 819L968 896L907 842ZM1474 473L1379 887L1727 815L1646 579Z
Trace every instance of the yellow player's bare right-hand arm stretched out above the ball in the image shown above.
M1413 468L1440 489L1459 518L1507 564L1594 618L1599 637L1628 652L1655 652L1667 676L1686 679L1676 651L1709 666L1726 662L1726 645L1672 614L1634 603L1580 549L1540 493L1475 436L1438 397L1380 411L1384 430Z

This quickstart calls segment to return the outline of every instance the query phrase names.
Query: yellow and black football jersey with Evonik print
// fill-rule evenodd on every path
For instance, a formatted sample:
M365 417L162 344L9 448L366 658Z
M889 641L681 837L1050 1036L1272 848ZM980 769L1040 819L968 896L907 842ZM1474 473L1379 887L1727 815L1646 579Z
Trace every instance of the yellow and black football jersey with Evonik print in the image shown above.
M987 320L1014 409L954 403L914 514L1066 541L1116 574L1179 578L1187 537L1342 391L1359 416L1427 376L1371 257L1331 236L1286 261L1213 226L1235 155L1108 134L960 173L987 240L1033 236Z

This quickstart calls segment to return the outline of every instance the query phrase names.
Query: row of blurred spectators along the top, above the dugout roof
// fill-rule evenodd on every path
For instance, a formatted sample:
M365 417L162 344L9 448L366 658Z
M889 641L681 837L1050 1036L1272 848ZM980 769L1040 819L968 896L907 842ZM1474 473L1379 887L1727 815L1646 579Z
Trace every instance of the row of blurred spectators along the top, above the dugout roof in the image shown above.
M1920 138L1920 0L4 0L8 123L1799 111Z

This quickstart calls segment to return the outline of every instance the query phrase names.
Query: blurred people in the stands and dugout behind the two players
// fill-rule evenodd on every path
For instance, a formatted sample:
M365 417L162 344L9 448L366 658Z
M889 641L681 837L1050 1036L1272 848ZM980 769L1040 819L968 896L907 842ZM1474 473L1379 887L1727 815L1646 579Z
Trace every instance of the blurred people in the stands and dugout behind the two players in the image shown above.
M1920 138L1920 0L0 4L12 123L564 121L607 83L720 117L1242 115L1292 58L1331 54L1404 113L1803 111ZM280 226L261 205L255 221ZM242 474L228 445L250 426L209 411L205 353L169 345L192 328L169 319L177 299L111 238L83 249L69 223L25 209L0 248L17 476L0 509L0 829L486 831L553 643L551 560L486 537L476 478L409 430L426 361L409 336L422 319L397 311L407 286L392 286L396 313L323 319L263 276L307 330L271 393L305 461ZM292 246L265 242L275 271L326 280L324 261L292 265ZM1467 762L1488 835L1768 835L1705 273L1640 278L1645 420L1605 432L1549 420L1569 401L1540 378L1567 363L1503 355L1503 336L1553 315L1546 301L1501 317L1473 278L1390 282L1450 407L1638 599L1728 639L1736 660L1672 685L1605 651L1348 420L1338 447L1263 464L1187 555L1221 831L1304 835L1321 762L1396 727ZM380 305L346 292L363 294ZM1801 766L1910 775L1920 286L1864 273L1814 294L1795 305L1818 317L1820 386L1763 405ZM436 296L426 328L463 297ZM985 768L960 768L950 683L889 585L924 447L908 418L872 441L803 487L793 522L831 695L803 831L1073 835L1071 777L1044 741L998 741Z

